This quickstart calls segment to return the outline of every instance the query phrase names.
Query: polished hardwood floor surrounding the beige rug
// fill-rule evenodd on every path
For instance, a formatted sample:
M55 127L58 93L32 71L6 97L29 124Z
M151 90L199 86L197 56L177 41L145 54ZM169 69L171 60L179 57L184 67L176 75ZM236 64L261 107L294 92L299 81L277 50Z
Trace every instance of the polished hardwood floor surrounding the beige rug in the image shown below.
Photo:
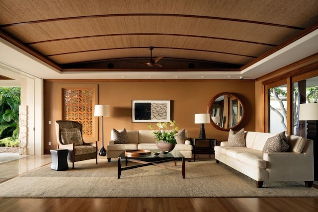
M1 157L1 154L0 154ZM205 157L204 155L199 155ZM0 160L1 161L1 160ZM0 183L51 162L50 155L0 163ZM0 184L1 186L1 184ZM316 198L0 199L0 212L317 212Z

